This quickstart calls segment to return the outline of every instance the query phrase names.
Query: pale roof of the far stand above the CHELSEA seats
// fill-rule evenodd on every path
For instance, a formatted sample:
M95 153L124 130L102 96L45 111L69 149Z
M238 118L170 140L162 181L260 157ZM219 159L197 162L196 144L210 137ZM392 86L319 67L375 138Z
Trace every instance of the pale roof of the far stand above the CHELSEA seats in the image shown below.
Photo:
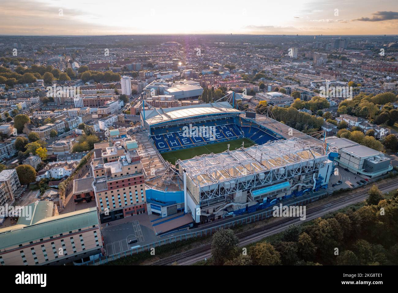
M164 108L145 112L145 122L149 125L161 124L172 120L192 118L195 116L217 115L228 113L244 113L232 108L228 102L214 102L193 106Z

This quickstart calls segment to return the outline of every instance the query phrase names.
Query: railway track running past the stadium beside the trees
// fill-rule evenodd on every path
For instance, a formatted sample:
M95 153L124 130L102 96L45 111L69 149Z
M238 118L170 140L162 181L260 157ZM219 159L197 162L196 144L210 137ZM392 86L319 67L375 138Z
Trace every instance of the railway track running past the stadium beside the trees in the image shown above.
M391 191L392 189L398 188L398 179L394 179L387 183L379 184L377 186L380 191L385 193L387 191ZM343 199L338 199L336 201L328 203L327 205L308 209L306 212L305 220L300 220L299 218L282 218L281 220L275 223L267 224L259 228L254 228L244 232L237 233L236 236L240 240L238 245L244 246L247 244L251 244L253 242L257 242L262 238L282 232L283 230L289 228L289 226L297 224L298 222L313 220L315 218L323 216L324 214L327 214L328 212L334 212L345 206L357 203L359 201L363 201L367 197L367 192L369 188L366 188L363 191L359 191L353 195L344 197ZM178 265L189 265L199 260L203 260L204 258L209 258L210 256L211 256L211 244L204 244L187 252L182 252L180 254L176 254L169 258L165 258L163 260L155 262L152 265L168 265L174 262L178 262L179 260L182 261L178 262Z

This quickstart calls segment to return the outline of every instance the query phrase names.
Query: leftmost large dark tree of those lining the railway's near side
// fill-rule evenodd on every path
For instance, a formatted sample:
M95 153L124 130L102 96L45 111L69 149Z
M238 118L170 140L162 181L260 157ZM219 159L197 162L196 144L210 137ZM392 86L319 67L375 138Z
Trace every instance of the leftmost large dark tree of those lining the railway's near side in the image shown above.
M216 264L224 264L228 259L231 259L238 248L238 237L231 229L218 230L211 242L211 254Z

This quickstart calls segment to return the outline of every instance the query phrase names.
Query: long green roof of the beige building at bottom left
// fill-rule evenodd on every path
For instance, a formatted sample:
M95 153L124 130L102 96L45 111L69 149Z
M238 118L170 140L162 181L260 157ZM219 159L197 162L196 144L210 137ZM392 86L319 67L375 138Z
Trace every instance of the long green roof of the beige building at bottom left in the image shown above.
M7 227L0 229L0 249L59 235L60 233L68 234L69 231L93 225L98 225L96 208L60 214L43 219L31 226L18 225L19 228L15 227L14 230L10 229L13 226Z

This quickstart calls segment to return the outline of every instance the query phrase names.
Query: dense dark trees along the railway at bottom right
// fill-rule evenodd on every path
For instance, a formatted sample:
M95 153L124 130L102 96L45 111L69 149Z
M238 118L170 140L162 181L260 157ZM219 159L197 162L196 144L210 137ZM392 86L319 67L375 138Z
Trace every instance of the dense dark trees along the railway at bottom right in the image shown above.
M374 185L367 205L295 225L271 242L238 248L230 229L217 231L211 262L217 265L397 265L398 198L386 200Z

